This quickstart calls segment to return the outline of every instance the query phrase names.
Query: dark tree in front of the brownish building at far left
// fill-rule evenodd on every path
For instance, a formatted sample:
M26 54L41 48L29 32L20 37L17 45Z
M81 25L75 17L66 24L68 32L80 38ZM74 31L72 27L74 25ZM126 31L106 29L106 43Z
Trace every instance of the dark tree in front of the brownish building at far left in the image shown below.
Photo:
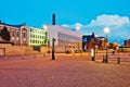
M1 29L0 36L5 41L10 41L10 39L11 39L10 32L8 30L8 28L5 26L3 27L3 29Z

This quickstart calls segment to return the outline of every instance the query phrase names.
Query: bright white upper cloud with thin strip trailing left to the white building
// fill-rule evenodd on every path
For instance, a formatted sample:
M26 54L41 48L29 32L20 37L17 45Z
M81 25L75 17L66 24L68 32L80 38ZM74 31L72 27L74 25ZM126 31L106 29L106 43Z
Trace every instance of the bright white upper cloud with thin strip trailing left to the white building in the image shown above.
M75 23L73 25L63 24L64 27L69 28L90 28L90 27L120 27L123 25L130 25L130 18L128 16L119 16L117 14L115 15L108 15L103 14L96 16L95 20L92 20L90 24L83 25L81 23Z

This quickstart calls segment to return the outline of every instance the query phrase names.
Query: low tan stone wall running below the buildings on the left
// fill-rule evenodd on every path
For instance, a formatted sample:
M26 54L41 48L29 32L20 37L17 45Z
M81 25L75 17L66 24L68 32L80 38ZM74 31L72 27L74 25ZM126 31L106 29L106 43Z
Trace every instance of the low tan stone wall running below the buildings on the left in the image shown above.
M52 50L48 47L40 47L40 51L34 50L32 47L29 46L12 46L10 44L0 44L0 55L4 54L4 48L5 48L5 54L25 54L25 53L48 53L48 51Z

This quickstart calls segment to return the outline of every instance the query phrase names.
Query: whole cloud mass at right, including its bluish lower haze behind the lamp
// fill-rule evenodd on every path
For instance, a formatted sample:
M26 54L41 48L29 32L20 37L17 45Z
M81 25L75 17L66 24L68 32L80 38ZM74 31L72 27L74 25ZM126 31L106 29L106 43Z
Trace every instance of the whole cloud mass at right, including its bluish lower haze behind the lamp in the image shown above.
M120 15L108 15L102 14L98 15L95 20L92 20L89 24L83 25L81 23L76 23L74 25L67 25L68 28L79 28L79 32L84 34L95 33L99 36L105 36L104 28L108 27L109 34L108 38L112 41L121 41L125 39L130 39L130 18L128 16Z

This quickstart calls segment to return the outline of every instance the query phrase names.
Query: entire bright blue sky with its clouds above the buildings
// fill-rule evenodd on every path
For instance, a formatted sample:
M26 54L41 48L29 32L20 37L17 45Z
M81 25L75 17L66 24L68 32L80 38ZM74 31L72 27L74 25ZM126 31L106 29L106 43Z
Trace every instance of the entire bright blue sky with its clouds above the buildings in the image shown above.
M95 32L104 35L100 30L105 25L113 29L125 27L125 32L130 34L130 0L2 0L0 3L0 20L4 23L26 23L28 26L42 27L42 24L52 23L52 13L55 13L57 25L64 24L75 28L75 25L79 24L83 34ZM99 21L101 25L98 25ZM113 25L113 22L117 24ZM120 22L121 25L118 24ZM118 38L121 37L119 33L123 30L114 32L118 32L116 36ZM112 32L110 34L114 35Z

